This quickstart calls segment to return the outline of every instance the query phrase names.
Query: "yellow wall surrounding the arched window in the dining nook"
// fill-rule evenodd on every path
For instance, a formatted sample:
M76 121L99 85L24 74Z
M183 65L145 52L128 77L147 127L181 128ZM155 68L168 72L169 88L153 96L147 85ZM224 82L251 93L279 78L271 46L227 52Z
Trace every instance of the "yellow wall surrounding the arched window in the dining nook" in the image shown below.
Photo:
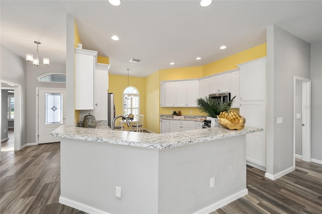
M135 87L140 93L140 114L145 115L146 88L145 77L129 77L129 86ZM123 115L122 97L127 88L127 76L109 74L109 92L114 93L115 115ZM145 123L145 116L144 122ZM143 124L144 125L144 124ZM145 125L144 125L145 127Z

